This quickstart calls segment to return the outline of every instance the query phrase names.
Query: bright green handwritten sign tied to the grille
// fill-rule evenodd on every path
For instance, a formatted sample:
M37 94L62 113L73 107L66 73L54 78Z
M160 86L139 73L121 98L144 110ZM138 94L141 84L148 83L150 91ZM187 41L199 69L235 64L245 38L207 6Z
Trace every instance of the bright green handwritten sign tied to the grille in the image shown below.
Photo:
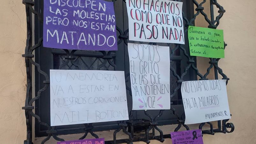
M191 56L224 58L223 30L189 26L188 41Z

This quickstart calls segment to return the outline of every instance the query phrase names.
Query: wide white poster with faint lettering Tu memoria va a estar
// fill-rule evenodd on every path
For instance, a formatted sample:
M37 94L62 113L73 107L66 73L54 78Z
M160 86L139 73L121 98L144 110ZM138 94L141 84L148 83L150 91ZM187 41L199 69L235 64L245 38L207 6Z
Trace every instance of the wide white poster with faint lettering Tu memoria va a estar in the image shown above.
M123 71L50 70L51 126L128 119Z

